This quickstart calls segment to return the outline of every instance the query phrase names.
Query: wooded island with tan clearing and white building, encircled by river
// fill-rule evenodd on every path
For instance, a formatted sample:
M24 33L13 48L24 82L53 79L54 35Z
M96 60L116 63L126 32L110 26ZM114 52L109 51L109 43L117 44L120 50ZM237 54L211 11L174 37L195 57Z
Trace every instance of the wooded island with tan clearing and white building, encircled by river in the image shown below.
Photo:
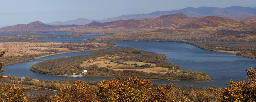
M133 54L137 53L137 54ZM211 80L207 74L180 70L157 54L124 47L92 51L90 55L56 58L32 65L30 70L48 75L82 74L84 77L131 77L170 80ZM81 71L86 70L86 73Z

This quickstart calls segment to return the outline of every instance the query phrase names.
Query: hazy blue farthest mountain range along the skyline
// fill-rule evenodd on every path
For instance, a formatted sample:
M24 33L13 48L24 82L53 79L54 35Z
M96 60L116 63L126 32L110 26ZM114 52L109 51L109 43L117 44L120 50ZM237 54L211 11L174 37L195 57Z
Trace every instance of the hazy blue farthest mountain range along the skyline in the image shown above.
M189 17L206 17L206 16L218 16L218 17L224 17L224 18L231 18L235 20L251 20L256 19L256 8L251 7L241 7L241 6L231 6L226 8L217 8L217 7L199 7L199 8L193 8L188 7L180 10L171 10L171 11L156 11L149 14L136 14L136 15L122 15L118 17L108 18L108 19L102 19L102 20L89 20L84 18L79 18L75 20L69 20L65 22L57 21L57 22L51 22L47 24L53 24L53 25L85 25L89 24L93 21L96 22L111 22L111 21L117 21L117 20L129 20L129 19L137 19L142 20L145 18L156 18L160 17L162 15L168 15L168 14L175 14L175 13L183 13Z

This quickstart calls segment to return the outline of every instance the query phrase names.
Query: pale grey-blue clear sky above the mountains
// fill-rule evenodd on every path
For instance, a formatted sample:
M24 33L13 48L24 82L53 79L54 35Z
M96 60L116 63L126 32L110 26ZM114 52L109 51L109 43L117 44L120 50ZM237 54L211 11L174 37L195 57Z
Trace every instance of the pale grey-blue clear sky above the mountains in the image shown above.
M256 0L0 0L0 27L77 18L101 20L202 6L256 7Z

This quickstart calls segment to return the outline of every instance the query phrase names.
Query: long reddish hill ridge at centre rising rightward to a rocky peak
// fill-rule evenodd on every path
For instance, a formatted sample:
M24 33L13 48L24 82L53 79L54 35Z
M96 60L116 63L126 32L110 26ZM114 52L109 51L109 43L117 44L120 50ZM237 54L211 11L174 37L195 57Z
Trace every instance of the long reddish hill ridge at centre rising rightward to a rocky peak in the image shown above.
M92 22L80 26L80 29L88 28L150 28L150 27L170 27L170 26L182 26L189 22L195 21L199 18L188 17L183 13L177 13L172 15L162 15L154 19L143 19L143 20L117 20L112 22Z

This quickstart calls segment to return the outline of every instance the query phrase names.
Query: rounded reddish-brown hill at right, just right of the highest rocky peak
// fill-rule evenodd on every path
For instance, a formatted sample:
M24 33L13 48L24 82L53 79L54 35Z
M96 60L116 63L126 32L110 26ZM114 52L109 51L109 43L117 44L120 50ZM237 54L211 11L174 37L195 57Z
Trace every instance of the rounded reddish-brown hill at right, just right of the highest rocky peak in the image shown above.
M221 25L224 23L232 23L232 22L235 22L235 20L222 18L222 17L207 16L207 17L198 19L194 22L190 22L180 27L179 29L203 28L205 26L217 27L218 25Z

